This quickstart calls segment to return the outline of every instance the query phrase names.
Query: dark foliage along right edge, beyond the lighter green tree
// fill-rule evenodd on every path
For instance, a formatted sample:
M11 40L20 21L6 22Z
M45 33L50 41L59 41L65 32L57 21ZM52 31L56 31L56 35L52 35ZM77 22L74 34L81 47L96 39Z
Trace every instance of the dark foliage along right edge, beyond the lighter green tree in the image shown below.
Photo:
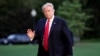
M86 0L86 2L83 2L84 10L92 14L93 18L87 21L87 26L91 27L92 31L86 31L84 36L86 39L100 39L100 0Z

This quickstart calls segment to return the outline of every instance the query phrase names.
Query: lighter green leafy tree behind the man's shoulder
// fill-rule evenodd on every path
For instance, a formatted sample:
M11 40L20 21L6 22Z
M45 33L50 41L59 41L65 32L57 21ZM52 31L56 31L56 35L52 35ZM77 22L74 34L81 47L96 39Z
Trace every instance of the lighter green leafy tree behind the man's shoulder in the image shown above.
M91 16L82 11L82 4L79 0L65 0L59 6L57 15L66 19L69 28L76 37L82 37L84 30L90 30L86 27L86 21Z

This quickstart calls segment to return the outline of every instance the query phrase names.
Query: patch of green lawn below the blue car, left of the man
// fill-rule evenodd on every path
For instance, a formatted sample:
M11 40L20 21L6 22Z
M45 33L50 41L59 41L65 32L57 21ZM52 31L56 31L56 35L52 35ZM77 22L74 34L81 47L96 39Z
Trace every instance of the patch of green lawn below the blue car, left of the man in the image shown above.
M36 56L37 45L0 46L0 56Z

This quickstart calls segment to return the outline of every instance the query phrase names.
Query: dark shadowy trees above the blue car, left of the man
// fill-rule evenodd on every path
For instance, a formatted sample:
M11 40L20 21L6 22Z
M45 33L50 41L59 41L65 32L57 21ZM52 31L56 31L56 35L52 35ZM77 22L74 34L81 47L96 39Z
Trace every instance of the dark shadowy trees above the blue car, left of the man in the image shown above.
M0 37L12 33L26 33L33 27L30 12L36 8L37 0L0 0Z

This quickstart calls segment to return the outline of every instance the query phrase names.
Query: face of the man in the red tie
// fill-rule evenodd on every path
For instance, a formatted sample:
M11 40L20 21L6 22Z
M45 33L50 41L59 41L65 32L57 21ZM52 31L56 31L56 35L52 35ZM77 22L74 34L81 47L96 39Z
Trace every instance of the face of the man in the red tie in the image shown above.
M47 6L43 9L43 13L47 19L51 19L54 15L54 9L51 6Z

